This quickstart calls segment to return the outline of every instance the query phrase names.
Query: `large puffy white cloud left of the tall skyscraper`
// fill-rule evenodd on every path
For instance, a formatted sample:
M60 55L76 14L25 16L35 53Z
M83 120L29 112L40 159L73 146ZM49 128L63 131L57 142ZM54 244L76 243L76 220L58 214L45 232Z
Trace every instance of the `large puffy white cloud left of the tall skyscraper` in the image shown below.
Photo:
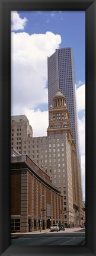
M59 48L61 37L11 33L11 111L47 103L47 56ZM18 113L17 113L18 114Z

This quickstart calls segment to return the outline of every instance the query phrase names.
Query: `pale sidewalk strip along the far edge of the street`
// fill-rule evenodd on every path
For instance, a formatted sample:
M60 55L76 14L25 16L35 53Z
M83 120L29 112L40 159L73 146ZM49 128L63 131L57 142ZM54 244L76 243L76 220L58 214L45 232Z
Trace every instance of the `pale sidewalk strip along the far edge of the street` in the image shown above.
M66 233L69 233L69 232L75 232L75 231L79 231L81 230L82 228L79 227L79 228L65 228L65 231ZM31 232L16 232L16 233L11 233L12 236L17 236L17 235L31 235L31 234L40 234L40 233L49 233L50 232L50 229L42 229L41 232L38 230L38 231L31 231Z

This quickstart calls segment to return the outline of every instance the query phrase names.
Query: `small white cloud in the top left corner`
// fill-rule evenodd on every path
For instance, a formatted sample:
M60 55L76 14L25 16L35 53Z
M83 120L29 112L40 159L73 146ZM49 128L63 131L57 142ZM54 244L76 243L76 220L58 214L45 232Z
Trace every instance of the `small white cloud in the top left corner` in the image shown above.
M27 18L20 18L17 11L11 11L11 31L24 30Z

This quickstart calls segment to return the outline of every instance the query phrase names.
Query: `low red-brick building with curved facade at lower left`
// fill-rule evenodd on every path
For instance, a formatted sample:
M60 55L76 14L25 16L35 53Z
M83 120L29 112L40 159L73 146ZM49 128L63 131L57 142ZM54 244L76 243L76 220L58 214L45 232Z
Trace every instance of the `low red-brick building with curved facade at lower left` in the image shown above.
M11 155L11 232L36 231L63 223L63 196L50 176L27 155L15 150Z

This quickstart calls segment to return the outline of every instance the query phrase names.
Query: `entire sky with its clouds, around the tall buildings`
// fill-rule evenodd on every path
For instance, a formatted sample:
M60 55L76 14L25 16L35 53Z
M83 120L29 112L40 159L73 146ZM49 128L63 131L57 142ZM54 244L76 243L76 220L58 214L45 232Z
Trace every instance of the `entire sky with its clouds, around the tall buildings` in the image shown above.
M62 47L73 48L85 200L85 11L11 12L11 115L25 114L34 136L47 135L47 56Z

